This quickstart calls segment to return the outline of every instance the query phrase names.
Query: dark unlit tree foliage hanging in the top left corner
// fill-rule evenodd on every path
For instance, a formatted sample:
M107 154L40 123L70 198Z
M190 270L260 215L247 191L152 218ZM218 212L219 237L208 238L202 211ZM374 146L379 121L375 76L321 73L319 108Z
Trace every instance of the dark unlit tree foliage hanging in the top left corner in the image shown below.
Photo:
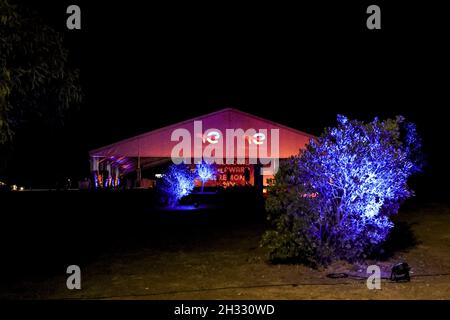
M61 123L81 102L63 38L36 14L0 0L0 145L31 119Z

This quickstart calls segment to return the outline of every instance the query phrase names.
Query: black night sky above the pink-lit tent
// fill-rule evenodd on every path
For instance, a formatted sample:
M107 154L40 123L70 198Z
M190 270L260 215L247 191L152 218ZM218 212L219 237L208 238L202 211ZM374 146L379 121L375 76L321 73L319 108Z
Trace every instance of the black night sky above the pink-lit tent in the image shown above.
M64 34L85 100L62 128L18 132L11 182L76 181L93 148L234 107L315 135L337 113L402 114L428 157L418 195L448 198L449 49L436 4L22 2ZM81 31L65 27L70 4ZM382 30L366 29L369 4L380 5Z

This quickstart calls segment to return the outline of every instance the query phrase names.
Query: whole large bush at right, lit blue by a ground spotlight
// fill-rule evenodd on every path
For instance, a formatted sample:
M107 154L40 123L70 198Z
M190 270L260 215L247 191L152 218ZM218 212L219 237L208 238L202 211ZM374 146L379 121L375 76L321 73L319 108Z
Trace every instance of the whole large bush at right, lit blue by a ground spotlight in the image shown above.
M367 124L338 116L337 127L280 164L266 202L269 258L326 265L374 253L413 195L407 180L422 168L420 146L401 116Z

